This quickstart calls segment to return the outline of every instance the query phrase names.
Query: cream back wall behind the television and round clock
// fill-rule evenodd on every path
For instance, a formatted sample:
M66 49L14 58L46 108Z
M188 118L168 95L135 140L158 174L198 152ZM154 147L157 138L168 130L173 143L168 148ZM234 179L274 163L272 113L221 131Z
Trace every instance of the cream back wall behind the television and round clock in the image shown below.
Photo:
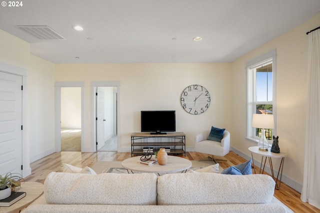
M230 64L151 63L151 64L56 64L55 81L84 81L84 142L91 140L91 81L120 81L118 97L120 151L130 151L130 134L140 132L141 110L176 110L176 131L186 134L186 146L194 136L211 125L230 129ZM180 92L200 84L211 95L209 109L190 115L180 106Z

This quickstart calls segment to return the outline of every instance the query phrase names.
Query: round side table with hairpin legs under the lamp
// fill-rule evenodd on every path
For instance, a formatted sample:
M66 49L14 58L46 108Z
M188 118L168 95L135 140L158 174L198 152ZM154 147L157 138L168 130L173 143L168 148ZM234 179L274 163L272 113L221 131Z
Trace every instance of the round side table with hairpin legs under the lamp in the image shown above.
M287 156L287 154L284 152L273 153L273 152L270 152L270 150L260 151L258 147L249 147L248 150L251 152L254 174L256 174L256 172L255 172L255 167L254 167L254 163L253 163L253 153L261 156L261 164L260 164L259 174L263 174L265 164L266 164L266 159L268 159L270 169L271 169L271 176L272 176L273 180L275 181L275 189L279 190L280 185L281 185L284 158ZM277 174L276 178L274 177L274 173L273 173L272 158L280 158L281 159L280 166L278 169L278 174ZM264 160L264 163L263 163L263 160ZM262 164L263 164L263 168L262 168ZM280 175L280 179L278 179L279 175Z

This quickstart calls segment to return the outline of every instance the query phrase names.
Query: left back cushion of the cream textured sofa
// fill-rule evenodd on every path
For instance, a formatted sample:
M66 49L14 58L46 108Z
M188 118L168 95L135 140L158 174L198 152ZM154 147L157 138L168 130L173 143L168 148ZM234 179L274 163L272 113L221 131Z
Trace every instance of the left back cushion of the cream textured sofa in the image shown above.
M51 172L44 181L47 204L156 205L153 173L98 175Z

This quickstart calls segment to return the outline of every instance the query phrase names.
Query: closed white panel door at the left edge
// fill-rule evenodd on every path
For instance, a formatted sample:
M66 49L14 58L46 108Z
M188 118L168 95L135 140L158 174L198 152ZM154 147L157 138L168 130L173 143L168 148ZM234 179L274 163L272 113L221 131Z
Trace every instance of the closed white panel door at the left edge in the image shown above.
M0 72L0 175L21 174L22 77Z

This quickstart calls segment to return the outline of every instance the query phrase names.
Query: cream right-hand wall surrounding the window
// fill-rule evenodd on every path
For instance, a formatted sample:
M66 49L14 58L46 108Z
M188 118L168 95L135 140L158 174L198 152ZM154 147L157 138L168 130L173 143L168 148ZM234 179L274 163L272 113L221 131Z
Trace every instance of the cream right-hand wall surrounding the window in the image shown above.
M276 49L276 134L279 147L287 152L283 174L299 189L303 178L305 113L307 90L307 53L310 29L319 25L320 15L265 43L232 63L232 147L251 156L247 148L256 146L246 137L245 63ZM240 113L242 112L242 113ZM259 159L256 157L256 159ZM260 160L260 159L259 159ZM279 161L273 162L276 168ZM294 183L295 182L295 183Z

